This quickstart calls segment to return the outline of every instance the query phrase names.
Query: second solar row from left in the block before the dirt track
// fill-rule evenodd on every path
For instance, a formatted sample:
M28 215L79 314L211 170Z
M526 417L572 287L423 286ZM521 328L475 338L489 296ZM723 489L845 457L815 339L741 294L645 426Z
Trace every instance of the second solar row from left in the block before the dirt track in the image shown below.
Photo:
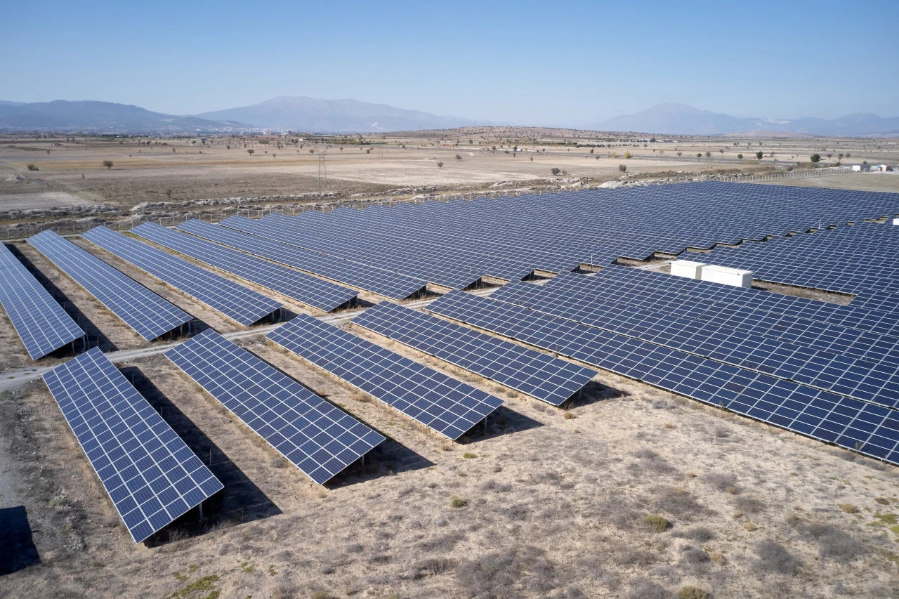
M212 329L165 357L319 485L385 439Z

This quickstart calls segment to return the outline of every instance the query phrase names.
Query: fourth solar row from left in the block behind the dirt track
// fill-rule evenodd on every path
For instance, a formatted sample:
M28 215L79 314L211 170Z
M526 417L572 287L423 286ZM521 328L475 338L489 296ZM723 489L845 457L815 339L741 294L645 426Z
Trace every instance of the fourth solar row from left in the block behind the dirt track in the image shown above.
M184 235L156 223L145 222L131 232L140 237L190 256L202 263L214 266L226 273L235 274L266 289L278 291L291 299L330 312L346 306L356 299L358 293L321 279L298 273L268 260L246 255L225 246Z

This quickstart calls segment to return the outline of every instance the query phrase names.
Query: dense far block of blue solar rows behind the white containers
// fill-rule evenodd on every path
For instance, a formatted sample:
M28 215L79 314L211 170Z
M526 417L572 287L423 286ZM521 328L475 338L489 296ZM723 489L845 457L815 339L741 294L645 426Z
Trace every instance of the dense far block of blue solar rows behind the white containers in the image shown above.
M565 273L619 256L679 254L896 212L897 193L707 182L232 217L221 224L463 289L484 275L514 281L535 270Z

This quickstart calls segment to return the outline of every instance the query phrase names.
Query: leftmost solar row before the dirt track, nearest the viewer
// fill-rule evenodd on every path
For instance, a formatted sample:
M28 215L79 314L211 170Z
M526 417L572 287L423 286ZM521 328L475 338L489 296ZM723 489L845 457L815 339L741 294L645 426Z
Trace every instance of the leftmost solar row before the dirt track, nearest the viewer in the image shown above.
M224 488L98 348L44 381L134 541Z

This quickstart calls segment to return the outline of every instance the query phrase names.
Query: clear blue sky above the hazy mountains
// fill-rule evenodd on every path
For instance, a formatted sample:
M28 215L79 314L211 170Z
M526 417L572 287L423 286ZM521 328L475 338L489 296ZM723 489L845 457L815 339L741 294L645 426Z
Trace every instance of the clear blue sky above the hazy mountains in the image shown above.
M31 2L0 99L189 114L276 95L521 124L688 103L899 116L895 2Z

